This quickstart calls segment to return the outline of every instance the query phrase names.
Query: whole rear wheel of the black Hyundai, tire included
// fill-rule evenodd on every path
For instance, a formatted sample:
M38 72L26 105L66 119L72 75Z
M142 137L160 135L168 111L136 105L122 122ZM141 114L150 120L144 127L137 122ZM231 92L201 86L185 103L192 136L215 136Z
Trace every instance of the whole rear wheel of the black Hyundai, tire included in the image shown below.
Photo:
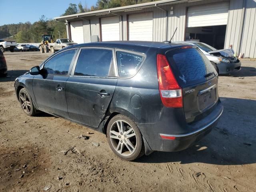
M145 154L138 126L122 114L114 116L108 123L107 138L111 150L123 160L132 161Z

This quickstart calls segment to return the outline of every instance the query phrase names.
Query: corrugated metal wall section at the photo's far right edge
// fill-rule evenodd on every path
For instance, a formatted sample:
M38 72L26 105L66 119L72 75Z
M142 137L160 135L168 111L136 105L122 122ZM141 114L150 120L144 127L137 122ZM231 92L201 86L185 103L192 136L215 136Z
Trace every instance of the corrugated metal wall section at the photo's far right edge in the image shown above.
M241 53L244 57L256 58L256 2L246 1L244 30L242 35Z

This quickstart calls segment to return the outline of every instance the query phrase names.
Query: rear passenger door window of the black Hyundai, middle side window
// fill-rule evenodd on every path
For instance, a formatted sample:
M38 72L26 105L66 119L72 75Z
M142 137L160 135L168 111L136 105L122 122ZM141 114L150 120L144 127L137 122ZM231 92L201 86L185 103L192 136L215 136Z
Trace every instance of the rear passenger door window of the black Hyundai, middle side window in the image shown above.
M82 49L76 62L74 75L114 76L112 50Z

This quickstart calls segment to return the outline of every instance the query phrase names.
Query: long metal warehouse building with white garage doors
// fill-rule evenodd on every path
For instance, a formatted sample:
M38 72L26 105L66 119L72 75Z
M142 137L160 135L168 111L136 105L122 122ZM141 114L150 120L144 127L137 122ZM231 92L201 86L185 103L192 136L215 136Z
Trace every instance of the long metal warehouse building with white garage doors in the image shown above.
M205 42L232 45L256 58L256 0L161 0L55 18L77 43L110 40Z

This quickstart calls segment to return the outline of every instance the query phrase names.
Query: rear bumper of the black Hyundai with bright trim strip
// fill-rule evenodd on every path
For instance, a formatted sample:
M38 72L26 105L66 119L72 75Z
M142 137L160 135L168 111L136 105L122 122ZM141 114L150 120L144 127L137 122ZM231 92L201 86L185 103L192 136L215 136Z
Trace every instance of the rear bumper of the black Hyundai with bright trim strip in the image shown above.
M173 125L168 124L137 124L144 137L146 154L150 151L174 152L181 151L190 147L195 142L206 136L212 128L216 126L223 112L221 102L218 102L216 108L202 120L181 126L180 134L174 131ZM170 117L169 117L170 118ZM184 132L184 130L186 130ZM172 134L174 133L174 134ZM161 135L170 136L172 139L161 138Z

